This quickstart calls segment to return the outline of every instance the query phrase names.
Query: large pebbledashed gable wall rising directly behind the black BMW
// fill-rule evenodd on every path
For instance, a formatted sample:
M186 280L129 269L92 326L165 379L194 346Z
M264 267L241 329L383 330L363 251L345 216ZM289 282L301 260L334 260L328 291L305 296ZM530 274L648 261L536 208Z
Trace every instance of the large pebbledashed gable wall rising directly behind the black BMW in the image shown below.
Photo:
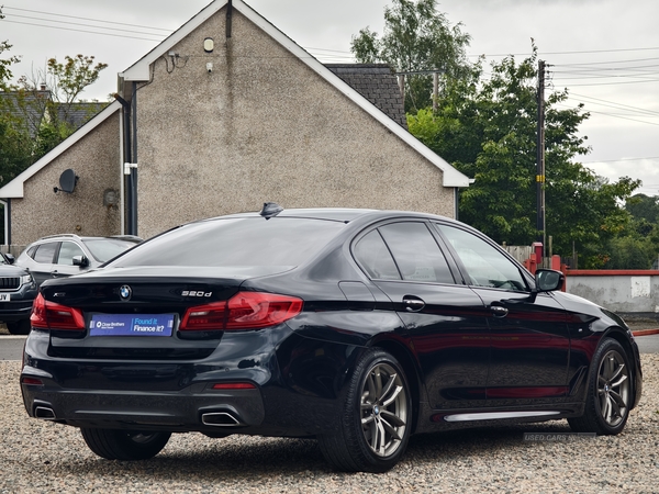
M224 13L137 91L141 236L265 201L454 215L442 170L239 12L225 42Z

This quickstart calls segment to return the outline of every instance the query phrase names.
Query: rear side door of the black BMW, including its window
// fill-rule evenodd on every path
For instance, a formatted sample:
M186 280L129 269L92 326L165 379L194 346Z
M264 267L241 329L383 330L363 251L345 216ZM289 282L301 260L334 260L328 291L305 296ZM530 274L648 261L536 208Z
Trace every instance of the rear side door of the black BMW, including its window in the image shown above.
M490 353L482 301L454 278L425 221L380 224L357 239L357 262L393 302L434 409L484 406Z

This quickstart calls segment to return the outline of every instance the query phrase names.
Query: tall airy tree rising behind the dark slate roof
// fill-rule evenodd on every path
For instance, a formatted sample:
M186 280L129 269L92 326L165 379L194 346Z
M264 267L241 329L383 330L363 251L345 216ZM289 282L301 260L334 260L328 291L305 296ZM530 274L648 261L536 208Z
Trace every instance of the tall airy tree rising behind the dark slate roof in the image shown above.
M436 0L393 0L384 8L384 33L365 27L353 36L350 49L361 64L389 64L398 72L438 70L443 79L469 72L465 50L470 36L461 24L450 25ZM432 104L433 76L405 76L405 111Z

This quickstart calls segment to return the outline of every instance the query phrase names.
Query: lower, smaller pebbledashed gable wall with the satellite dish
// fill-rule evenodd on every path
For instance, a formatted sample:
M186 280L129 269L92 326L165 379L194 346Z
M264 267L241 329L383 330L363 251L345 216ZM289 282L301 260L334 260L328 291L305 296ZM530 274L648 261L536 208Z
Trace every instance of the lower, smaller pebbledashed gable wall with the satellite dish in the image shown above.
M53 159L24 183L24 199L11 200L12 244L45 235L119 235L119 207L103 205L107 189L120 190L120 112ZM80 179L72 193L54 193L71 168Z

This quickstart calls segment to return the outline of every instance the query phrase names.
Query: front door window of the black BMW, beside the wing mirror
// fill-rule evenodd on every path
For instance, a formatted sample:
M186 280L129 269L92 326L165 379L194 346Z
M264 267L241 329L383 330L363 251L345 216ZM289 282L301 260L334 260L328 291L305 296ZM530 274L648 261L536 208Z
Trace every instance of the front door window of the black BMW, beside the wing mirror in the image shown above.
M435 226L448 239L462 261L469 277L468 284L503 290L527 291L518 267L482 238L447 225Z

